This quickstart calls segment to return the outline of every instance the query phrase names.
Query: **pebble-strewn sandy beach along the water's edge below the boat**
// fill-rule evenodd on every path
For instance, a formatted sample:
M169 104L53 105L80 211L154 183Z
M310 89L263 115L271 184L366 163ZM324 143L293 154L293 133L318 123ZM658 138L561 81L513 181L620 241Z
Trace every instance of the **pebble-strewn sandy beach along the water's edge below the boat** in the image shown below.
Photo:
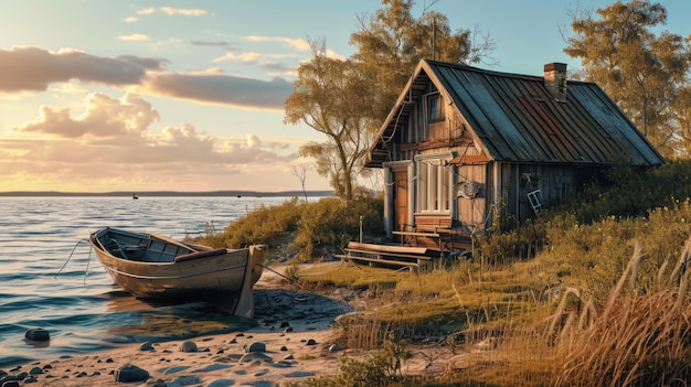
M302 292L279 275L265 270L255 287L258 325L247 331L131 344L113 351L34 362L4 372L21 379L19 386L121 386L127 383L222 387L297 383L337 373L342 356L366 355L340 347L332 329L339 315L362 310L362 294L344 289L330 294ZM450 351L438 344L418 345L403 370L434 375L445 372L455 359ZM2 377L0 372L0 380Z

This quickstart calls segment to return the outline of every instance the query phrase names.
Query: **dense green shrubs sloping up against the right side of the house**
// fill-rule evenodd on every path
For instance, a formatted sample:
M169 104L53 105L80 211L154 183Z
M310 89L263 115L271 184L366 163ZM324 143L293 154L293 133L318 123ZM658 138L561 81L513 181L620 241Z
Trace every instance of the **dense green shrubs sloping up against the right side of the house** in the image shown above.
M518 227L510 227L513 219L499 205L495 226L477 238L474 252L485 264L506 266L532 258L549 247L583 259L587 267L619 254L630 255L630 240L640 238L650 239L645 245L659 254L656 261L661 262L678 254L683 245L680 240L691 223L688 197L691 197L690 160L649 170L614 165L604 181L593 182ZM668 235L670 232L672 235ZM668 243L661 244L663 240ZM617 265L599 269L620 270L621 259Z

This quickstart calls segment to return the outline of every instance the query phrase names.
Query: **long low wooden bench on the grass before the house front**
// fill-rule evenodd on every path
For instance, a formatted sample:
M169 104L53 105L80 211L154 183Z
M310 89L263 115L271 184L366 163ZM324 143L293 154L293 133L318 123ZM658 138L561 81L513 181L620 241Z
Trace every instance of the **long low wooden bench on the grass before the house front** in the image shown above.
M351 241L344 255L334 257L342 261L364 261L401 268L421 269L434 258L434 252L425 247L404 247L392 245L375 245Z

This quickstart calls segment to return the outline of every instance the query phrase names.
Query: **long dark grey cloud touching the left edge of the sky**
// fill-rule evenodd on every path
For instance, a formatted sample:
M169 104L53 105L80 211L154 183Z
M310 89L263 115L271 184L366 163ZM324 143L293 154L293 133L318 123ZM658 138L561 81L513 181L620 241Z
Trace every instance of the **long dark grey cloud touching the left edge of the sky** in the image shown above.
M162 69L163 65L161 60L132 55L113 58L75 50L0 49L0 94L43 92L52 83L72 79L114 86L136 85L147 71Z

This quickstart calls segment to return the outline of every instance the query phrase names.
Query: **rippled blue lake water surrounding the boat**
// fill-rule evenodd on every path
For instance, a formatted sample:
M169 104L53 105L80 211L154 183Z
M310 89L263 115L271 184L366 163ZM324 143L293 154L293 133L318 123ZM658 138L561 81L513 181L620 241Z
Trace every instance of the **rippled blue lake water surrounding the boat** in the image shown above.
M173 238L223 230L288 197L0 197L0 367L148 340L243 329L204 303L151 304L115 286L86 243L105 226ZM76 246L76 247L75 247ZM62 272L59 271L71 256ZM50 344L33 346L29 329Z

